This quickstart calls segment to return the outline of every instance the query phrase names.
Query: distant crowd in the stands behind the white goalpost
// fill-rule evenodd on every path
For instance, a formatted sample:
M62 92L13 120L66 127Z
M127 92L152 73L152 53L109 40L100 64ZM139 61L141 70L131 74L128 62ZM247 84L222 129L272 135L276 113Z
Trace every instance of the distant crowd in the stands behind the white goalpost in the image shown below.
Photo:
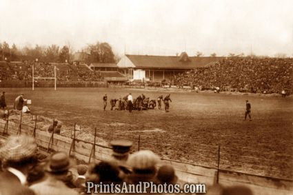
M0 81L32 81L32 65L34 65L34 77L54 77L54 66L56 66L58 81L103 81L100 72L94 72L87 68L72 68L71 65L62 63L34 63L34 62L1 62Z

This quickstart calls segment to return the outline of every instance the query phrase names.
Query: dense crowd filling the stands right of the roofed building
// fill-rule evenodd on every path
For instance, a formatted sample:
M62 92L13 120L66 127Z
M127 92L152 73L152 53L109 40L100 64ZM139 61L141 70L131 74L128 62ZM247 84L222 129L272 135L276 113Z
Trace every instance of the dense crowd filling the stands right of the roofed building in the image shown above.
M229 58L174 77L179 86L221 91L292 94L293 59Z

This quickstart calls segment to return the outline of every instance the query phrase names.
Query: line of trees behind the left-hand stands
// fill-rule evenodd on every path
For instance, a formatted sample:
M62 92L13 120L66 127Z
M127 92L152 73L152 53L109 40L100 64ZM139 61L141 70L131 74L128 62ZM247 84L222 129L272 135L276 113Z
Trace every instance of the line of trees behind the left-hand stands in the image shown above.
M82 59L84 63L114 63L117 57L112 47L106 42L89 44L83 50ZM0 61L38 61L43 62L72 62L74 53L70 43L67 45L34 45L34 47L17 47L14 43L10 46L6 41L0 43Z

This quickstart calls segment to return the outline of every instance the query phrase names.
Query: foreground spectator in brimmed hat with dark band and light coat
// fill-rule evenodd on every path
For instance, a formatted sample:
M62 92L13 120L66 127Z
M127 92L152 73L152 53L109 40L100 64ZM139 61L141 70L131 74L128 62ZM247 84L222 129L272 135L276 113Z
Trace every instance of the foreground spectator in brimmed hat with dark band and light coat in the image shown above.
M70 189L65 185L68 170L72 167L73 161L64 152L57 152L50 158L50 162L46 167L48 178L45 181L31 185L37 195L60 195L60 194L79 194L74 189Z

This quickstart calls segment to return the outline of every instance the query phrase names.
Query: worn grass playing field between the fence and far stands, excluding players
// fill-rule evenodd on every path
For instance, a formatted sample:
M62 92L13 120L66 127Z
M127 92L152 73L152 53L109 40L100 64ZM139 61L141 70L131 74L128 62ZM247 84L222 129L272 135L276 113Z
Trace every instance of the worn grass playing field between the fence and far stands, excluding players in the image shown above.
M141 136L141 149L154 150L164 158L227 170L281 178L293 177L293 101L257 95L170 92L170 112L103 111L102 97L136 97L143 93L155 99L166 91L114 88L5 89L8 105L23 92L32 99L32 111L57 118L66 125L76 122L105 141ZM245 100L252 104L252 121L243 121ZM137 142L134 145L137 150Z

